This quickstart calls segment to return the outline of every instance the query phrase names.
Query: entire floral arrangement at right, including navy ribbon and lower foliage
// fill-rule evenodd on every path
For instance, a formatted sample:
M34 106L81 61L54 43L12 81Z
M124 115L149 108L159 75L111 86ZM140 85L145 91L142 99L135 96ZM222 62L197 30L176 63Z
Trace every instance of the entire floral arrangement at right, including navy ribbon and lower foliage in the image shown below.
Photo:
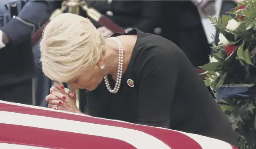
M238 134L238 148L256 149L256 2L242 1L228 13L210 18L219 43L200 68Z

